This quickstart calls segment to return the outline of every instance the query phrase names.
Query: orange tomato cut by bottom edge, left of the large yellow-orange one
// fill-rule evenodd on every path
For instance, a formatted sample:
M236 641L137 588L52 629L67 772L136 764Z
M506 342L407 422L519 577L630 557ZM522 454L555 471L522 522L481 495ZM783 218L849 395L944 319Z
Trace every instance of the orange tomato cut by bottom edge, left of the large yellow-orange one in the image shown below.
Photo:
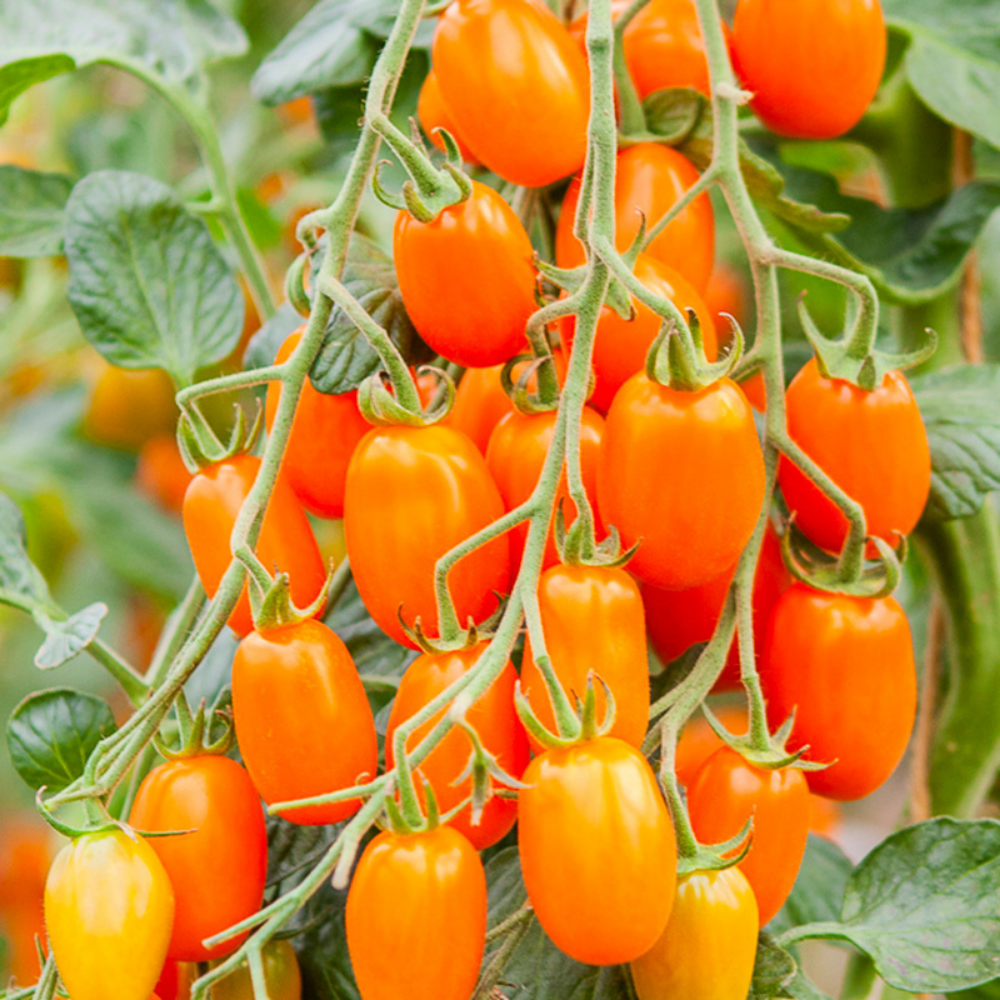
M380 833L347 894L362 1000L469 1000L486 936L486 873L456 830Z

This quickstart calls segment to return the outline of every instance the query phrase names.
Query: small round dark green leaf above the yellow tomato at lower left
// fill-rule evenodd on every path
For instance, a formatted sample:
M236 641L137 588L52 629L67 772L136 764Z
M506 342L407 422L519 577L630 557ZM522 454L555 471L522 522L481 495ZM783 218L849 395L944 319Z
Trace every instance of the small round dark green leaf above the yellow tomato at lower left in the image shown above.
M97 744L115 731L106 701L71 688L38 691L7 724L7 748L31 788L58 791L79 778Z

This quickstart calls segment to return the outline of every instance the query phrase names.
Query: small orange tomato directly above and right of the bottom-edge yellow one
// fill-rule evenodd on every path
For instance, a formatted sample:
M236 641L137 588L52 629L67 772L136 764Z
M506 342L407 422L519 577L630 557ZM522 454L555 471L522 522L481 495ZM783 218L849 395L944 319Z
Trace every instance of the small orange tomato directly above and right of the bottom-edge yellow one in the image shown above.
M753 886L763 927L784 905L809 837L809 786L795 768L765 770L731 747L702 764L688 793L695 836L721 844L753 817L753 843L740 870Z

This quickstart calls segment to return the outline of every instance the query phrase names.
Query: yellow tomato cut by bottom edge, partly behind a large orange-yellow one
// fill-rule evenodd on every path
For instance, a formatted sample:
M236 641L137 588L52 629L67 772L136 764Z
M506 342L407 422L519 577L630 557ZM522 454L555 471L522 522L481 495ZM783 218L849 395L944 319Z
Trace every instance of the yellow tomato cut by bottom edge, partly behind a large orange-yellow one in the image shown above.
M639 1000L746 1000L758 931L739 868L682 875L667 929L632 962Z

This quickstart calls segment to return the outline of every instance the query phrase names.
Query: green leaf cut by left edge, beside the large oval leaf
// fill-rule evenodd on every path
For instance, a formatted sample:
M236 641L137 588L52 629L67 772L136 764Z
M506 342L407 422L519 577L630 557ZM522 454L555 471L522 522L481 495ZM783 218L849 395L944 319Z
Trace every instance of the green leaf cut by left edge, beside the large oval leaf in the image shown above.
M0 167L0 257L62 253L63 212L73 181L20 167Z

